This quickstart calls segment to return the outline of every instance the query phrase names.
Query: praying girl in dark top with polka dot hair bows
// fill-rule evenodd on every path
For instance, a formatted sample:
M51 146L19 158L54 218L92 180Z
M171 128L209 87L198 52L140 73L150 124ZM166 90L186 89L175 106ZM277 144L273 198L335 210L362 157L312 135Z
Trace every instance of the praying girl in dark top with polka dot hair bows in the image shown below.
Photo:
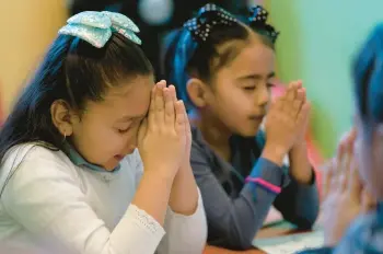
M310 229L318 213L304 135L310 103L301 82L270 104L278 32L262 7L242 23L207 4L173 33L164 73L188 102L192 166L204 197L208 243L252 249L271 206ZM266 132L260 124L267 113ZM290 157L290 168L282 165Z

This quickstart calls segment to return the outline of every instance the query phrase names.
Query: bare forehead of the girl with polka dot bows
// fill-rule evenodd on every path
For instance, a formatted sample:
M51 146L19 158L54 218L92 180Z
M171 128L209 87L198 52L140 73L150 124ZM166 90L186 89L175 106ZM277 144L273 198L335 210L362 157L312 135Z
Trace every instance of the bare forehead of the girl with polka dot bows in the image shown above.
M275 53L259 39L251 39L239 47L243 48L229 65L221 68L222 73L240 77L274 72Z

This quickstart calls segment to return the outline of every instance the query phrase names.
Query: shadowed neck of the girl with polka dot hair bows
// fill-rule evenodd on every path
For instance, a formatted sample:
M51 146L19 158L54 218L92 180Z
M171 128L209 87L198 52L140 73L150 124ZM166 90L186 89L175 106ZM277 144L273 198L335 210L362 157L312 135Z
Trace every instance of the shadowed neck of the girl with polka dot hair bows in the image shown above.
M209 112L194 111L190 114L190 123L193 126L199 128L205 141L210 148L229 161L231 158L231 150L229 139L232 132L220 122L217 117L209 114Z

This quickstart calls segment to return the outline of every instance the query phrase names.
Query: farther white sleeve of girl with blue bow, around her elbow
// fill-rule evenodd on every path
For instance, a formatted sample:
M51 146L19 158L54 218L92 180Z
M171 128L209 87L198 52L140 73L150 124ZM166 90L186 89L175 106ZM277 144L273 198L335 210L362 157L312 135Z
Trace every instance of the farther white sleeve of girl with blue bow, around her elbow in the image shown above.
M202 198L198 189L198 207L194 215L184 216L167 208L165 218L166 235L158 253L201 254L207 241L207 222Z

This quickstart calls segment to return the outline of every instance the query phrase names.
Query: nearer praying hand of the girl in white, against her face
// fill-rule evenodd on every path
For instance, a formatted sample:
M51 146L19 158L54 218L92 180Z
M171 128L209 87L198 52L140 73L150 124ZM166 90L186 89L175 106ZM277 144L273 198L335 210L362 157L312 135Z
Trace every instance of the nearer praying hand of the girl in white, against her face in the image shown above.
M144 169L164 171L174 177L185 154L186 125L183 102L174 101L174 88L159 82L152 90L148 118L139 131L138 148Z

